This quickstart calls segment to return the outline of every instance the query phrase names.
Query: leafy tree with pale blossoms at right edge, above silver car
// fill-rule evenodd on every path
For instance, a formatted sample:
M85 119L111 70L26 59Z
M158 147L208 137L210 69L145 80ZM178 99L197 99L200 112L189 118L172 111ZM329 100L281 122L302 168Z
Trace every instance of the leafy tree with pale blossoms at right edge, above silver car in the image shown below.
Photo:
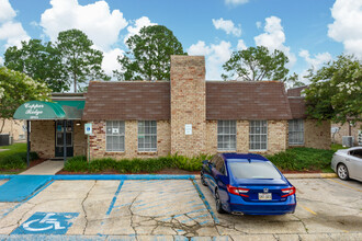
M309 70L305 90L307 113L319 120L335 123L362 120L362 62L341 55L316 72Z

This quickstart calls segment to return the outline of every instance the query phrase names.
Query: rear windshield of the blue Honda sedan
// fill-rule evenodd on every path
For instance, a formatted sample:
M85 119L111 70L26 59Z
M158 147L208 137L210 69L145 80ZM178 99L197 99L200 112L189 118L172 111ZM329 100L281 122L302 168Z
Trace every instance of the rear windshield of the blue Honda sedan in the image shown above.
M269 161L228 161L229 171L236 179L282 179Z

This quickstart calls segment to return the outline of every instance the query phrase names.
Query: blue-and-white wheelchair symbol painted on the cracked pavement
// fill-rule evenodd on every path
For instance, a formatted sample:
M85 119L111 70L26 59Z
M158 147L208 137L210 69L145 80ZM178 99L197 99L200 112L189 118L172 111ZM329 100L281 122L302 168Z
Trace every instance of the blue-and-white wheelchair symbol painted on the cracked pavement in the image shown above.
M79 213L35 213L11 234L65 234Z

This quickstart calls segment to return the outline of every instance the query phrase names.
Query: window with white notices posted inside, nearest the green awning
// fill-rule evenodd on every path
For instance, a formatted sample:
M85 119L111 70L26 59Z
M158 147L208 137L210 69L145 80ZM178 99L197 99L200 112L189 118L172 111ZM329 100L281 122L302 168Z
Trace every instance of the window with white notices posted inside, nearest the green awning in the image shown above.
M105 150L124 151L124 122L109 120L105 129Z

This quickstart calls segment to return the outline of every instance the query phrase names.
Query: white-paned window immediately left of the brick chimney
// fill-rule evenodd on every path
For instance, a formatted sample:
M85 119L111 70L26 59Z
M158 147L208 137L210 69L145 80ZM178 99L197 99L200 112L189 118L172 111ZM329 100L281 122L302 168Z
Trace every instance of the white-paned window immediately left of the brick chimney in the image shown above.
M156 120L138 122L138 151L157 151Z

